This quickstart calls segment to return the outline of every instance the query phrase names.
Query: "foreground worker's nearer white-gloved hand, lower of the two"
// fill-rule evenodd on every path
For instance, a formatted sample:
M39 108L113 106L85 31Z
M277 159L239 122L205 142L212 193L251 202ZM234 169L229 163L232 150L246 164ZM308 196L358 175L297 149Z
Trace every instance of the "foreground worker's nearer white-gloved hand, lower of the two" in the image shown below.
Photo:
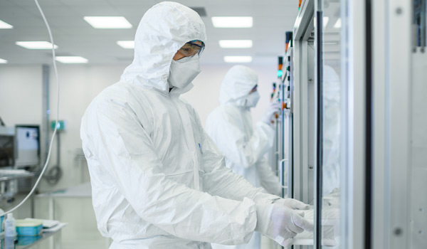
M272 238L280 245L291 245L297 233L313 230L313 224L310 221L282 204L256 203L256 208L255 231Z

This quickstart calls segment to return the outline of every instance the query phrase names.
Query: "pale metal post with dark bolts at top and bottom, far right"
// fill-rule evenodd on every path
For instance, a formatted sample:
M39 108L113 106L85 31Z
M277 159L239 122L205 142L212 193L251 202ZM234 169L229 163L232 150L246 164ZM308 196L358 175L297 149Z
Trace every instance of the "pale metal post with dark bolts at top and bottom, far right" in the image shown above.
M387 39L387 77L390 85L389 110L389 231L390 248L408 246L412 222L409 222L411 203L411 88L412 0L389 0ZM399 53L396 53L399 51ZM396 105L396 103L399 105ZM424 247L425 248L425 247Z

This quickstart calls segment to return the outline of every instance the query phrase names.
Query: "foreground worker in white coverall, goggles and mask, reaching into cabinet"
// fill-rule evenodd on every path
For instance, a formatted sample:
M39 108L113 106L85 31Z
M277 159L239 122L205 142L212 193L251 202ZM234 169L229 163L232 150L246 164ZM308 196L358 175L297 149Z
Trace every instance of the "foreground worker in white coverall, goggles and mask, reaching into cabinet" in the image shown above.
M97 228L112 238L110 249L211 248L247 243L254 231L287 245L312 229L292 210L305 204L233 174L181 99L205 41L195 11L153 6L137 28L132 64L83 115Z

